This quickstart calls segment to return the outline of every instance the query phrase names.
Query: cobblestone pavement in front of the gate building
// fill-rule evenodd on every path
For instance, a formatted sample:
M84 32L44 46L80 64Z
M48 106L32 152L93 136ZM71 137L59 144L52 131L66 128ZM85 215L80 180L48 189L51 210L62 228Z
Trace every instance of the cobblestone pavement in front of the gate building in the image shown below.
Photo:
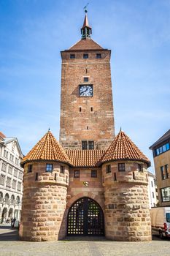
M2 256L169 256L170 240L153 237L149 242L116 242L105 238L67 238L64 241L26 242L18 231L0 226Z

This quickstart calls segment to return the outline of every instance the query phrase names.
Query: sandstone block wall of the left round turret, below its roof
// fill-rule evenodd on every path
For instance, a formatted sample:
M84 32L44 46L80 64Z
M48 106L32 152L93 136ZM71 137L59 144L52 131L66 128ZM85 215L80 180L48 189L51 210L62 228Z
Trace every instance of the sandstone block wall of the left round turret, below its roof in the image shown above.
M65 236L69 167L60 173L60 164L53 163L53 173L45 173L46 163L33 164L33 172L24 167L23 207L20 222L20 238L26 241L51 241ZM36 173L39 173L35 181Z

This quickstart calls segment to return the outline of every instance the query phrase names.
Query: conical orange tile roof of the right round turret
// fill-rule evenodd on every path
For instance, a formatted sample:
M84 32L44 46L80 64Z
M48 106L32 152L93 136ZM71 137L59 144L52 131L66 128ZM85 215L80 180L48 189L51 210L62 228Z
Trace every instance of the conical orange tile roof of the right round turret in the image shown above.
M117 161L117 160L137 160L146 162L150 166L150 160L144 156L142 151L125 135L125 132L118 133L116 138L102 157L101 162Z

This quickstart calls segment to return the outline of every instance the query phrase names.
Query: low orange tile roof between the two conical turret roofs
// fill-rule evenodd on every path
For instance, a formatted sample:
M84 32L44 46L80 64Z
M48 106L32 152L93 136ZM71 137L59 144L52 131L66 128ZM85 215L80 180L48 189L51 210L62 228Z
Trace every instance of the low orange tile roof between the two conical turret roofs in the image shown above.
M74 167L96 167L104 153L104 150L98 149L66 151Z

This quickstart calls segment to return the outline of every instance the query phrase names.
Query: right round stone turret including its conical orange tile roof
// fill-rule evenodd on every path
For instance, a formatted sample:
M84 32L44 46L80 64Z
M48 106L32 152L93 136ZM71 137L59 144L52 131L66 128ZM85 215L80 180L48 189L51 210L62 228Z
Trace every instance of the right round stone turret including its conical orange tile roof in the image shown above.
M106 237L116 241L151 240L147 192L149 159L120 132L101 162Z

